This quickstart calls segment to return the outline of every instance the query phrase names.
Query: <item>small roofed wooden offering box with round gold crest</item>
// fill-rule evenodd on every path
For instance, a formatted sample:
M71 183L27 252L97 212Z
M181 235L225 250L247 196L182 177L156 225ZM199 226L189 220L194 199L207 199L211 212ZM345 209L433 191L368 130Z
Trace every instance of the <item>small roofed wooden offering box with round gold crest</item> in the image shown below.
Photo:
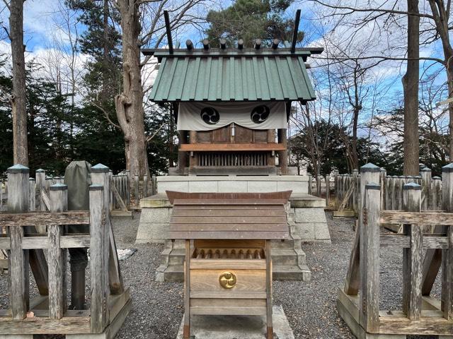
M170 239L185 239L184 330L193 315L266 316L273 338L270 239L289 238L285 204L291 191L181 193L173 204Z

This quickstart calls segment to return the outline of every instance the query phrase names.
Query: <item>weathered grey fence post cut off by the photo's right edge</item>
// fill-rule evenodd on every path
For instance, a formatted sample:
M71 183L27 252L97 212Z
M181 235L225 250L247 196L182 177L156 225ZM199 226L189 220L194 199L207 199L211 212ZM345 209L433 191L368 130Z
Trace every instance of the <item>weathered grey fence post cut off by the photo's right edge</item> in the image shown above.
M453 212L453 163L442 167L442 209ZM453 318L453 226L444 226L448 249L442 249L442 301L444 318Z

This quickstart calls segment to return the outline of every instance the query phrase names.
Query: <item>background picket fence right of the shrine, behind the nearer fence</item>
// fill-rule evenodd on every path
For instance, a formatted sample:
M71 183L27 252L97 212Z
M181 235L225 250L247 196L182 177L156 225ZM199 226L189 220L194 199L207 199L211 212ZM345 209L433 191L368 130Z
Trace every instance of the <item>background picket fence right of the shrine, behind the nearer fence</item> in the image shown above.
M335 200L338 211L350 210L355 214L358 213L361 179L362 176L357 169L352 171L352 174L334 173ZM422 169L417 177L387 176L385 169L379 169L378 184L381 187L381 209L401 210L403 206L403 186L411 182L421 186L422 210L441 209L442 179L432 177L429 168Z

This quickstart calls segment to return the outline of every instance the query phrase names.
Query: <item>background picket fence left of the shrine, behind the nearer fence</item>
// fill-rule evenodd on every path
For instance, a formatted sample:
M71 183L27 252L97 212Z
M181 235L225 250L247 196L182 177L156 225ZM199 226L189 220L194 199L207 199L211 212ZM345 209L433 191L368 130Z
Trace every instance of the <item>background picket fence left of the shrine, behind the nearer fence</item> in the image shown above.
M47 177L44 169L37 169L35 178L30 178L30 211L46 210L46 201L41 192L48 192L50 186L54 184L64 184L64 177ZM156 177L150 179L144 176L139 180L138 175L130 176L129 171L115 174L110 171L112 183L110 209L111 210L131 210L139 208L141 198L152 196L157 192ZM3 189L1 189L3 187ZM35 192L33 195L32 192ZM0 212L6 210L8 201L8 180L0 181ZM48 203L48 201L47 201ZM47 206L47 210L50 208Z

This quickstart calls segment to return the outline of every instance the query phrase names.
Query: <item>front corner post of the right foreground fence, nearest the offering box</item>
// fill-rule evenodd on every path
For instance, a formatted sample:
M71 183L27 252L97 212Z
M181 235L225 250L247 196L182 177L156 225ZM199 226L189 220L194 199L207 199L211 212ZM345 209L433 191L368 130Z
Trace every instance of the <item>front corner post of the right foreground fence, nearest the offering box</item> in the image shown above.
M377 167L379 169L379 167ZM379 175L379 172L377 172ZM378 178L379 179L379 178ZM362 292L360 293L360 323L369 333L379 331L379 212L381 186L365 185L365 203L362 210L363 237L360 237ZM363 246L362 246L363 242Z

